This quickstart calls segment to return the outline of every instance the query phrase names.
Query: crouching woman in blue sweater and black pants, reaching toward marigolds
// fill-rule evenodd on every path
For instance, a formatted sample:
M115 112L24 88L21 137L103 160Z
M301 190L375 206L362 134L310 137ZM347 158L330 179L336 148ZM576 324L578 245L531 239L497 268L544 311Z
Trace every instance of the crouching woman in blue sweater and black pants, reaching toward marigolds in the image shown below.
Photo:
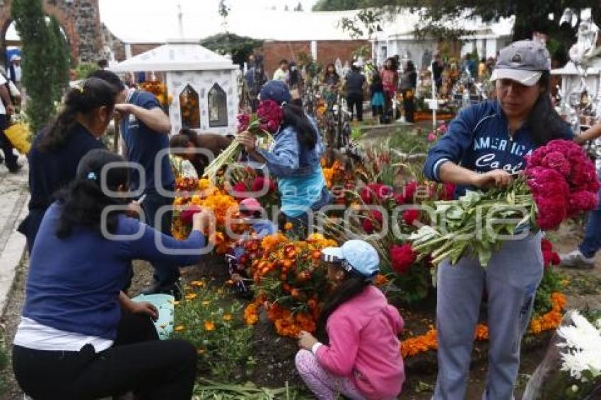
M192 233L182 242L129 218L121 195L129 187L129 169L110 163L124 158L90 151L74 182L45 213L13 341L13 370L34 399L134 392L144 399L187 400L196 349L187 341L159 341L151 321L156 308L132 302L121 288L132 259L174 268L197 263L210 217L195 214Z

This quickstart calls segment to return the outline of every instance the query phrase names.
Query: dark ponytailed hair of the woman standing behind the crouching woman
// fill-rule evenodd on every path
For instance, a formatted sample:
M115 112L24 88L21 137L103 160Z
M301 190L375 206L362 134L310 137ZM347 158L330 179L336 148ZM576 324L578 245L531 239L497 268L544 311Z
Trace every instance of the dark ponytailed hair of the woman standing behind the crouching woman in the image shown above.
M62 112L43 133L38 148L41 151L59 148L73 133L78 114L89 118L100 107L107 107L112 112L116 96L117 90L99 78L88 78L81 83L81 87L71 88L66 94Z

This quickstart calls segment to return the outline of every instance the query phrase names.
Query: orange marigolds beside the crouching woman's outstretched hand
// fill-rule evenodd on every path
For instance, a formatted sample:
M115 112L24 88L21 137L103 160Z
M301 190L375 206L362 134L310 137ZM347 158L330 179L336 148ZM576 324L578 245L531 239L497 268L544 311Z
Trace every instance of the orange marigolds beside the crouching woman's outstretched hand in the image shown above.
M225 254L245 231L245 225L239 218L238 201L223 189L211 185L206 179L183 178L177 181L177 197L173 201L174 211L171 233L178 240L184 240L192 230L192 216L201 209L209 209L215 220L214 232L209 242L214 245L217 254ZM192 191L196 183L196 190ZM234 237L231 237L234 236Z

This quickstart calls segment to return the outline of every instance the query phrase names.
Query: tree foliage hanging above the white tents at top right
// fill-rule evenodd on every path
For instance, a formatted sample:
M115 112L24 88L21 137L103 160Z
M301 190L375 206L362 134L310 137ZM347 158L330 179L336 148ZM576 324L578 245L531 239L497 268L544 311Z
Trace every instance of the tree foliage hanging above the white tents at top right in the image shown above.
M479 17L496 21L515 16L513 39L531 37L532 32L542 32L567 42L573 40L576 30L566 24L559 26L565 8L593 8L593 19L601 21L601 2L590 0L320 0L315 11L335 11L361 8L356 18L342 21L343 28L351 34L372 33L387 17L400 8L418 13L421 23L418 33L435 33L446 37L453 30L453 21ZM549 19L549 15L552 18ZM460 33L462 34L462 33Z

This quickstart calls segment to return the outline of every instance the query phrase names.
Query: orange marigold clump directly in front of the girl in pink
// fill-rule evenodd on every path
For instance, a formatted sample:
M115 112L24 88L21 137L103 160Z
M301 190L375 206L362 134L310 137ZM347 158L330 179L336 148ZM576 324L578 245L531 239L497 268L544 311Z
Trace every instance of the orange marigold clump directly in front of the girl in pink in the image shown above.
M257 322L257 308L266 305L277 334L296 337L301 330L315 331L320 302L329 290L321 249L337 243L320 234L299 241L279 233L244 246L247 254L241 261L247 264L259 298L245 311L247 323Z

